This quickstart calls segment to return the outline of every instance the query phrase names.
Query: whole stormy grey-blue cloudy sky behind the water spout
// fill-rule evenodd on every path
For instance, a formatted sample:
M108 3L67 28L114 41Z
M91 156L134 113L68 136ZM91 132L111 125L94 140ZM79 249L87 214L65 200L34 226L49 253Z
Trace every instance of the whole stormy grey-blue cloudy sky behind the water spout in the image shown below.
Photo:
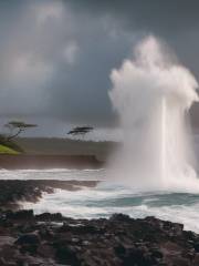
M1 124L38 123L28 134L49 136L88 124L106 137L117 125L109 74L142 38L163 39L199 79L198 10L197 0L0 0ZM198 117L196 104L195 127Z

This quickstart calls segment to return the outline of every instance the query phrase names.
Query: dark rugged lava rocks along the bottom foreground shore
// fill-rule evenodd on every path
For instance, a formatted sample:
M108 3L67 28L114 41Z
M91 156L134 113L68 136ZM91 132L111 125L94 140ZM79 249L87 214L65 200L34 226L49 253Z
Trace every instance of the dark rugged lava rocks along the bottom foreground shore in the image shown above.
M199 235L155 217L87 221L1 211L0 265L198 266Z

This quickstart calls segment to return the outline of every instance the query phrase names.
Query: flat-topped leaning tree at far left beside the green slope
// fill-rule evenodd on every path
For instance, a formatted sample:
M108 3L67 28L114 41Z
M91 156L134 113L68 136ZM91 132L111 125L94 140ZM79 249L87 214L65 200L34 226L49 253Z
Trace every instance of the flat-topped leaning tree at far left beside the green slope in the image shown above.
M24 132L25 130L30 127L38 126L36 124L28 124L22 121L10 121L7 124L4 124L7 129L9 129L10 133L7 136L7 141L11 141L14 137L17 137L19 134Z

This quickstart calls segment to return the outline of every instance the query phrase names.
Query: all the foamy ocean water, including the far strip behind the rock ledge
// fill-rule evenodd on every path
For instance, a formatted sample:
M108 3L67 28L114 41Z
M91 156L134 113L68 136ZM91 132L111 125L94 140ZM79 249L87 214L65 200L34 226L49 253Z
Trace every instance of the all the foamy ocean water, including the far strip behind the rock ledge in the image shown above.
M109 181L106 170L46 170L0 171L1 180L97 180L94 188L70 192L56 190L43 193L40 202L23 203L23 208L62 213L74 218L109 217L114 213L128 214L134 218L156 216L182 223L185 229L199 233L199 193L135 192L133 186Z

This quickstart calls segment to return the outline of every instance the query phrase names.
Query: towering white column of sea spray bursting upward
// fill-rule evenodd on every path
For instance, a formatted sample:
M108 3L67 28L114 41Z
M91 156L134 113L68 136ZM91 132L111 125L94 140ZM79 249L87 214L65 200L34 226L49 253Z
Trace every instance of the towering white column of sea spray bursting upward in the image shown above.
M150 35L111 80L109 98L124 131L114 176L136 190L199 191L187 123L198 101L195 76Z

